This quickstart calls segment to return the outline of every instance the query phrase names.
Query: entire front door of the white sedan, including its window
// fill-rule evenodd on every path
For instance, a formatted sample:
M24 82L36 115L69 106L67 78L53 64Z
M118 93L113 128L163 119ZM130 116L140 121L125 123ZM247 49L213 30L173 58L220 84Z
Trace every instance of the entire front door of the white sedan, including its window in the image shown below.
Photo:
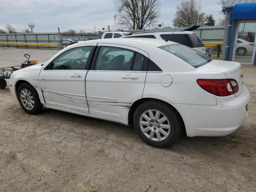
M39 79L46 107L89 113L85 96L86 64L90 63L95 45L69 49L41 70Z

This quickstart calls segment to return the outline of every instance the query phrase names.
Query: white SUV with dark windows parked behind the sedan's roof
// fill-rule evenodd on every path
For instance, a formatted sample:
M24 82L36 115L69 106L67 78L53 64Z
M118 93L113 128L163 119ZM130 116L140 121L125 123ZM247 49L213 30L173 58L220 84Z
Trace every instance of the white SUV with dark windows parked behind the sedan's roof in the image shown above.
M196 35L196 33L184 30L170 30L170 31L158 31L158 32L136 32L132 35L123 36L122 38L153 38L180 43L186 45L194 50L197 50L205 54L205 47L202 40Z

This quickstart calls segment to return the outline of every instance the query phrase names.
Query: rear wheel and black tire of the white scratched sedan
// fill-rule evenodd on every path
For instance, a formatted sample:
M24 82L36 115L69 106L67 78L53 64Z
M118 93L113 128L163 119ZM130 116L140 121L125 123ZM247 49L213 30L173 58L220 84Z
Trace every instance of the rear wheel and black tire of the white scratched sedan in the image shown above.
M178 112L163 102L146 101L133 116L134 129L147 144L166 148L180 138L183 122Z

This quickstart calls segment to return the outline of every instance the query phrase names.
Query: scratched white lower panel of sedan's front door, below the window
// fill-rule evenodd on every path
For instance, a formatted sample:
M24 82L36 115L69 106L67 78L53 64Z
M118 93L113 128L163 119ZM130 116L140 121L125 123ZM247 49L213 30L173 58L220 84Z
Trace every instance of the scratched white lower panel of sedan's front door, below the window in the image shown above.
M86 73L87 70L41 71L40 86L46 106L89 113L85 96Z

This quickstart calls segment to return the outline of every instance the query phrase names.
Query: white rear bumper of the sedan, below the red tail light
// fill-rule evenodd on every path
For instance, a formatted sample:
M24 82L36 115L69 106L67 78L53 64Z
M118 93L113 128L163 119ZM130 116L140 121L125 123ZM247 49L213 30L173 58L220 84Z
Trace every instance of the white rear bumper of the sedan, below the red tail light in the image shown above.
M248 116L250 93L217 97L217 105L172 104L184 120L187 136L225 136L237 130Z

